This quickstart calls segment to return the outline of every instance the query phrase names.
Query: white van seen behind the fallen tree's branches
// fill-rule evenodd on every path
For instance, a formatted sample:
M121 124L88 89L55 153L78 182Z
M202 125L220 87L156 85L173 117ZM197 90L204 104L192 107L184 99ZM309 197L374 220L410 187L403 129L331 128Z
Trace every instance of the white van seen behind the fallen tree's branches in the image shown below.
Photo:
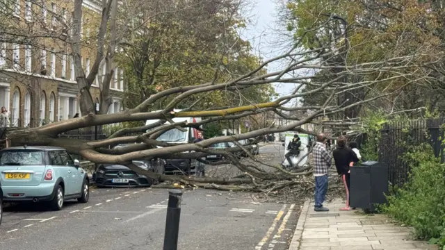
M160 111L160 110L159 110ZM173 110L175 113L180 112L181 110ZM184 122L188 123L193 122L201 122L201 117L178 117L173 118L173 122ZM145 125L154 124L155 122L159 122L159 119L147 120ZM168 124L166 122L165 124ZM168 131L165 131L162 135L160 135L156 140L160 142L168 142L168 143L177 143L183 144L188 142L193 142L195 138L197 138L197 133L199 132L196 128L185 128L186 131L180 131L177 128L172 128ZM197 165L197 161L194 159L168 159L165 164L165 172L184 172L184 174L191 174L191 169L195 169Z

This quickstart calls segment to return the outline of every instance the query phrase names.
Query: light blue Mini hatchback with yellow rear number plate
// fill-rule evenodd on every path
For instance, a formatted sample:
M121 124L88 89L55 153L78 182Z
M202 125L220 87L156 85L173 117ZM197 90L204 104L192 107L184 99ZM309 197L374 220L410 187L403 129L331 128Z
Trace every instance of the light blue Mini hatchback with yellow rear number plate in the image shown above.
M89 179L79 160L60 147L10 147L0 151L3 202L46 201L60 210L63 201L88 202Z

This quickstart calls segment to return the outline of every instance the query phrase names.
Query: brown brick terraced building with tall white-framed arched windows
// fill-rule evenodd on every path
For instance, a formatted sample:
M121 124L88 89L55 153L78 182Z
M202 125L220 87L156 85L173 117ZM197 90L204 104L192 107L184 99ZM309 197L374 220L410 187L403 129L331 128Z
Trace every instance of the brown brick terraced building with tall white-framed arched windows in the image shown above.
M60 18L72 24L72 0L17 0L10 1L15 24L33 31L54 31L70 36L72 31L58 25ZM95 62L95 35L102 13L102 1L83 0L82 65L88 76ZM72 27L72 26L71 26ZM70 28L71 29L71 28ZM36 33L36 32L34 32ZM91 34L91 35L90 35ZM74 76L74 64L70 56L70 44L61 39L39 38L29 44L0 41L0 106L10 113L10 126L41 126L49 122L70 119L80 113L79 90ZM17 39L18 40L18 39ZM37 41L37 42L36 42ZM99 102L99 77L105 67L99 69L95 83L90 88L93 99ZM123 71L117 67L110 84L113 103L108 113L120 112L124 91Z

